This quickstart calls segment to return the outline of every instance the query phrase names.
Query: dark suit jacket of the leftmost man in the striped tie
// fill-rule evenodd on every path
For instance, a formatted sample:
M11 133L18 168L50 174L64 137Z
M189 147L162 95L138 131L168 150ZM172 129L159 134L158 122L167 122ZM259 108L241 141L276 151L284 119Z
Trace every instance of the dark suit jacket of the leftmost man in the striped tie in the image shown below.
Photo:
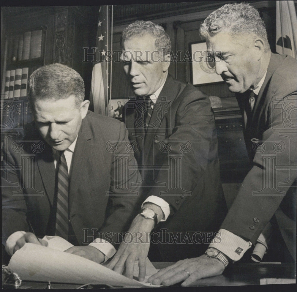
M115 236L105 232L123 232L135 216L139 172L129 148L128 132L116 119L88 112L78 134L69 177L69 218L77 242L87 244L84 228L104 232L104 239ZM119 155L119 153L121 153ZM120 163L115 161L116 155ZM31 167L28 160L31 160ZM2 236L3 244L15 231L31 231L37 236L53 233L55 213L55 167L51 147L41 138L34 124L24 136L17 133L6 138L2 171ZM137 166L136 166L137 168ZM122 175L117 175L118 172ZM128 183L129 181L129 183ZM138 209L138 207L137 207ZM118 240L119 243L119 240Z

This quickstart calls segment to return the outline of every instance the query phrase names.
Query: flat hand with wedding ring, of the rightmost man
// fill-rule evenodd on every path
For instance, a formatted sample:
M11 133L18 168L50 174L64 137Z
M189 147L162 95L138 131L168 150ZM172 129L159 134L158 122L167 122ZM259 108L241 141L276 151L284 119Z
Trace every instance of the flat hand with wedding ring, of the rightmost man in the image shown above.
M187 258L167 268L159 270L149 277L148 282L154 285L170 286L181 281L181 286L189 286L196 280L218 276L225 270L224 264L216 258L201 255L198 258ZM189 272L189 274L188 274Z

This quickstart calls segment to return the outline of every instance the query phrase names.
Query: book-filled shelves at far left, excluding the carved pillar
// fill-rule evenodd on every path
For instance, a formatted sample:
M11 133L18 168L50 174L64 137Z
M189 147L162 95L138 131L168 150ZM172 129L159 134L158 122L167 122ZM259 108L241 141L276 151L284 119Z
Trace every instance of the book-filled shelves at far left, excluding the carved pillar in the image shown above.
M28 78L45 63L47 26L14 31L6 36L6 70L1 89L1 130L22 130L32 121L27 97Z

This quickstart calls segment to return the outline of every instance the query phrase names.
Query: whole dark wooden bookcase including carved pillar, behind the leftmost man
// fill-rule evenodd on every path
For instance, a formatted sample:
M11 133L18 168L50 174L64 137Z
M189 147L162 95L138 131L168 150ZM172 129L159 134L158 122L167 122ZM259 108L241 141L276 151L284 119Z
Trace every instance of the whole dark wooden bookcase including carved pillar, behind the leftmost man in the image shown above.
M7 132L22 131L32 120L26 91L37 68L65 64L88 88L92 64L83 63L82 48L94 46L97 13L91 6L1 8L1 142Z

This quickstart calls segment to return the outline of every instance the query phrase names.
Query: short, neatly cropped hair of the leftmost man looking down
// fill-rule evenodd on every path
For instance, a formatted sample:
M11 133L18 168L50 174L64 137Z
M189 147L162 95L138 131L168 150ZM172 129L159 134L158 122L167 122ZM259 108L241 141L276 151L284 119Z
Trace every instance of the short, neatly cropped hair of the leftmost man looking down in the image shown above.
M83 78L74 69L55 63L35 70L29 80L29 100L34 108L36 100L60 100L75 96L79 108L85 98Z

